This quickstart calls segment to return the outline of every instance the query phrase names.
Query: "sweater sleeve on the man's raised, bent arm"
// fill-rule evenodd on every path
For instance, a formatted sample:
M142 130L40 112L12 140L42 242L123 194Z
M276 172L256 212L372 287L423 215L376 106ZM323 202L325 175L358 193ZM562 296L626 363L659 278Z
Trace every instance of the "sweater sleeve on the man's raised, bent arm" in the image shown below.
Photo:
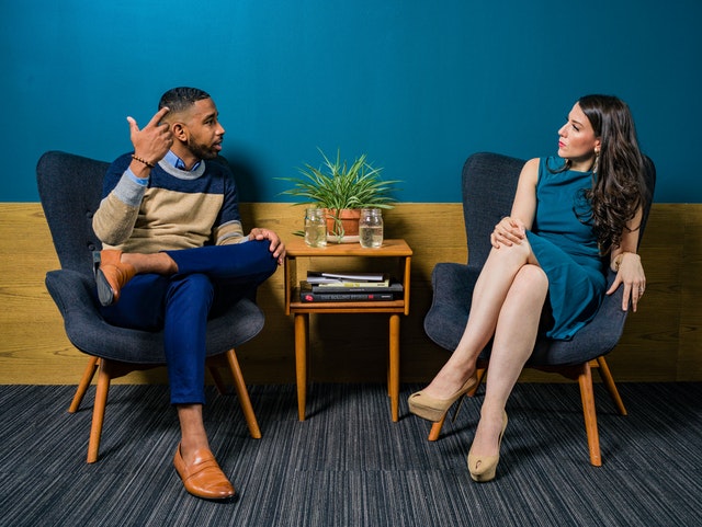
M95 234L109 245L120 245L129 239L147 188L127 170L131 160L131 154L125 154L107 169L103 198L92 219Z

